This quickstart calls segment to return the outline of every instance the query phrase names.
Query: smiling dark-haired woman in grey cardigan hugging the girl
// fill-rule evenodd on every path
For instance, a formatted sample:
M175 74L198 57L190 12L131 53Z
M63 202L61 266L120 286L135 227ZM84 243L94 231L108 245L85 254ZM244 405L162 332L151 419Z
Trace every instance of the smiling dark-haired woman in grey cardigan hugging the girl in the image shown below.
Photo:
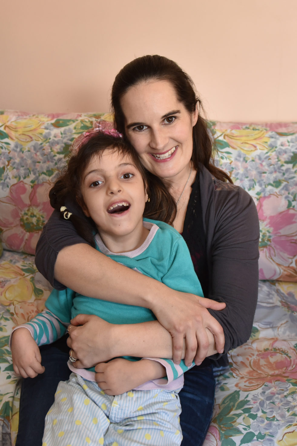
M128 296L131 305L150 308L160 322L109 326L95 316L78 316L72 325L83 326L70 328L67 341L79 359L77 367L105 361L108 353L165 357L172 345L173 359L178 362L186 339L186 363L195 356L200 365L186 372L180 392L182 444L197 446L212 416L214 360L219 360L220 367L226 364L222 354L245 342L252 329L258 283L256 208L252 198L225 182L227 174L212 164L200 100L190 78L175 62L160 56L130 62L115 78L111 102L117 130L132 143L144 166L163 178L176 200L173 226L186 240L204 295L226 302L226 308L218 311L214 302L167 289L103 258L57 215L43 231L36 264L56 288L68 286L117 302L127 290L126 301ZM65 204L71 210L73 204ZM56 360L51 360L50 353L49 363ZM60 379L67 378L61 373ZM32 397L32 388L28 392ZM26 395L23 390L22 398L28 401ZM39 406L40 398L37 395ZM21 409L21 420L24 412ZM24 435L20 433L18 441Z

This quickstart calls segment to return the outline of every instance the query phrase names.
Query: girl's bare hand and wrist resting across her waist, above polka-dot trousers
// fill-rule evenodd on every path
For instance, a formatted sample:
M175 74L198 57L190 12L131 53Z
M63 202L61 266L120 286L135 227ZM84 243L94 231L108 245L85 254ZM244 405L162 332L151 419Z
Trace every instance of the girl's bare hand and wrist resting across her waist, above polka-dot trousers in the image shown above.
M95 367L95 380L107 395L121 395L145 382L166 376L165 367L150 359L115 358Z

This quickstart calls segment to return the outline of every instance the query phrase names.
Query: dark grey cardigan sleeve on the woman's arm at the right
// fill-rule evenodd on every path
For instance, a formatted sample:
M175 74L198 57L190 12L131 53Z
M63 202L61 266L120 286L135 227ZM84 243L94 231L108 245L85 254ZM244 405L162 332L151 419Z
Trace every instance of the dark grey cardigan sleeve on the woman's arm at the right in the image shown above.
M223 327L226 353L246 342L252 332L258 295L259 220L252 197L226 183L221 187L214 182L209 216L211 213L208 297L226 302L226 308L209 312Z

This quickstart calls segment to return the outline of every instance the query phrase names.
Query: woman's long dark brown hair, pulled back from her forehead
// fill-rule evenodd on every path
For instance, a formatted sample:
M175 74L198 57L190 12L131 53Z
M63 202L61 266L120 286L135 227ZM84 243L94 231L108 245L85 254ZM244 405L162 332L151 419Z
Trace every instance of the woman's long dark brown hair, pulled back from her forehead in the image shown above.
M124 133L125 130L124 114L120 100L133 85L152 80L169 81L176 92L177 99L189 113L193 113L197 105L198 111L203 110L192 79L177 63L163 56L143 56L125 65L116 75L112 86L111 107L115 116L116 128L119 132ZM200 162L215 178L232 182L226 172L214 165L213 150L214 143L210 136L207 121L199 113L197 123L193 127L192 162L194 168L198 170L198 163Z

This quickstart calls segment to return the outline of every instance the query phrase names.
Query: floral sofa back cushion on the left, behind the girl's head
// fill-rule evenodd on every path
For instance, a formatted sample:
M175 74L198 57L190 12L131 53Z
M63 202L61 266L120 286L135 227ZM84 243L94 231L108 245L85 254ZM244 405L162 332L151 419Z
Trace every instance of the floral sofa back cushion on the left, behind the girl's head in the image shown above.
M0 111L0 233L4 249L35 253L59 161L103 113Z

